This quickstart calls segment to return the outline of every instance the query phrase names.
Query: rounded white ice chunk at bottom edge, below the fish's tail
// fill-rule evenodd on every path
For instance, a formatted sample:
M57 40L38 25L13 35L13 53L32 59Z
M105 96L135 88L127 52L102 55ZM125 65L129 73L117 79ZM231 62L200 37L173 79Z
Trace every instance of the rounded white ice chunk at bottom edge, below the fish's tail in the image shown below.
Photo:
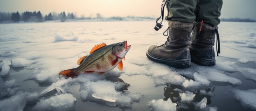
M72 111L76 98L69 93L60 94L48 99L41 99L32 109L34 111Z

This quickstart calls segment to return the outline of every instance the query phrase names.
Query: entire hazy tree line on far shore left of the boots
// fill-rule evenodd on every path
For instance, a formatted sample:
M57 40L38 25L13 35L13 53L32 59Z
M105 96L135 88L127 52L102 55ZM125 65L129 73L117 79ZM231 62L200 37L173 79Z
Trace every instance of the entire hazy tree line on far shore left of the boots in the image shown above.
M56 13L50 12L46 14L44 17L40 11L38 12L0 12L0 23L16 23L16 22L44 22L44 21L51 21L51 20L60 20L61 22L65 22L67 19L76 19L76 20L83 20L83 19L101 19L106 21L122 21L125 18L131 19L155 19L152 17L137 17L137 16L127 16L127 17L119 17L113 16L109 18L104 18L100 13L96 13L95 16L90 14L89 17L85 17L82 15L81 17L76 17L73 13L66 14L65 12Z

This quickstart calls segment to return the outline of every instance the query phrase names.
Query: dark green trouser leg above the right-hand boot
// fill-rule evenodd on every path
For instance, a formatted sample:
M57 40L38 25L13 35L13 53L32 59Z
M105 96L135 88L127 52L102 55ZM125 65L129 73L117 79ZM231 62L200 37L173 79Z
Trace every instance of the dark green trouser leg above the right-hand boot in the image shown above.
M196 11L196 21L207 23L212 26L220 24L222 0L199 0L199 10Z

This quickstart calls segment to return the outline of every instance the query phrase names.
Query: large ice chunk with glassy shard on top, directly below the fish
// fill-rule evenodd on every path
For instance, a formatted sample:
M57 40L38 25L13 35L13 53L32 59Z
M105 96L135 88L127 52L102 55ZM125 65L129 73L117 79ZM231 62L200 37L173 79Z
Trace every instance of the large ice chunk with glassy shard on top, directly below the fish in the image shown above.
M83 101L95 101L105 105L131 108L133 102L139 102L144 96L140 93L119 92L124 83L99 80L88 82L81 87L81 98Z

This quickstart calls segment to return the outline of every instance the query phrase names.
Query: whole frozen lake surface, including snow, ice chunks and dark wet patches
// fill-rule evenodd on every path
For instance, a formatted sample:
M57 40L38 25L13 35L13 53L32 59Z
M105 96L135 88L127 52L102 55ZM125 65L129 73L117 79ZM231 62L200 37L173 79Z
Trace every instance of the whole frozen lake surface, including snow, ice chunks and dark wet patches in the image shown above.
M0 111L254 111L256 23L222 22L216 65L176 69L145 56L165 43L154 21L0 24ZM123 71L80 74L99 43L128 41ZM215 48L215 46L214 46ZM53 92L44 95L47 91ZM59 91L55 93L54 91ZM44 93L44 94L43 94Z

